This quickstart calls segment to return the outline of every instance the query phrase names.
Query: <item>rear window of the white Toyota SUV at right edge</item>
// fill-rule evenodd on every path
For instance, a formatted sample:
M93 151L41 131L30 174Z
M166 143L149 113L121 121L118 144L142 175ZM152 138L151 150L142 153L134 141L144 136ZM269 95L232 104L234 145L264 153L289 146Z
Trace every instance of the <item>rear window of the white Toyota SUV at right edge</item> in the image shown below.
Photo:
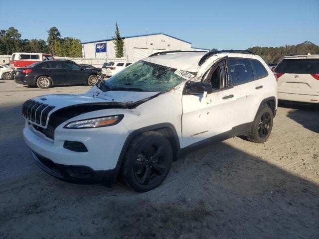
M278 73L317 74L319 59L284 59L275 68Z

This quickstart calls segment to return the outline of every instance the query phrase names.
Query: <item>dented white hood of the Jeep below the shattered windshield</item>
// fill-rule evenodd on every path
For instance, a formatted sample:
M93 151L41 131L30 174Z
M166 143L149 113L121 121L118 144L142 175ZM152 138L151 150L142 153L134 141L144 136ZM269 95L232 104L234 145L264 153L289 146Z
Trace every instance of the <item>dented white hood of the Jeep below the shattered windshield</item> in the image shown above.
M116 104L131 105L139 101L147 100L158 95L159 92L133 92L133 91L107 91L103 92L96 86L92 87L87 93L81 95L57 94L43 95L32 100L54 106L54 111L74 105L82 104Z

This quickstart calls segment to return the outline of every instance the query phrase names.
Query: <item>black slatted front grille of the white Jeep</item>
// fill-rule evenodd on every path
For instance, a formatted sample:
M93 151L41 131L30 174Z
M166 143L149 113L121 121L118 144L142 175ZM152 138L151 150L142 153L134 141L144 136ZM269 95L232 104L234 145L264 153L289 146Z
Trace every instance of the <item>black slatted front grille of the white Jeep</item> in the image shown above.
M22 106L22 116L32 122L41 123L41 125L45 126L48 114L54 108L54 106L48 106L34 100L27 100Z

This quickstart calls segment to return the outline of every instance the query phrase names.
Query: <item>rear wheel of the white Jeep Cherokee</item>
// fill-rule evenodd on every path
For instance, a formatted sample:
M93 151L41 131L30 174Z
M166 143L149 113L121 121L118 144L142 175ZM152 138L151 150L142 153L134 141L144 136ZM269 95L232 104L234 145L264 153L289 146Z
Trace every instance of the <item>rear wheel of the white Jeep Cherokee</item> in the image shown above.
M247 139L255 143L266 142L273 128L273 122L272 110L268 106L263 106L256 115Z

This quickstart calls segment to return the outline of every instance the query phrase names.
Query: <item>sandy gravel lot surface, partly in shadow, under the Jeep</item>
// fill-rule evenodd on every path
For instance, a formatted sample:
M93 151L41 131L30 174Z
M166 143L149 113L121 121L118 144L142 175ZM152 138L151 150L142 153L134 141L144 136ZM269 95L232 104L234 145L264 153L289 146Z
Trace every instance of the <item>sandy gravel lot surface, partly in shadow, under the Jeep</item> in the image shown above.
M79 185L39 169L22 103L89 87L0 80L0 238L318 239L319 111L278 108L264 144L234 137L173 162L157 189Z

